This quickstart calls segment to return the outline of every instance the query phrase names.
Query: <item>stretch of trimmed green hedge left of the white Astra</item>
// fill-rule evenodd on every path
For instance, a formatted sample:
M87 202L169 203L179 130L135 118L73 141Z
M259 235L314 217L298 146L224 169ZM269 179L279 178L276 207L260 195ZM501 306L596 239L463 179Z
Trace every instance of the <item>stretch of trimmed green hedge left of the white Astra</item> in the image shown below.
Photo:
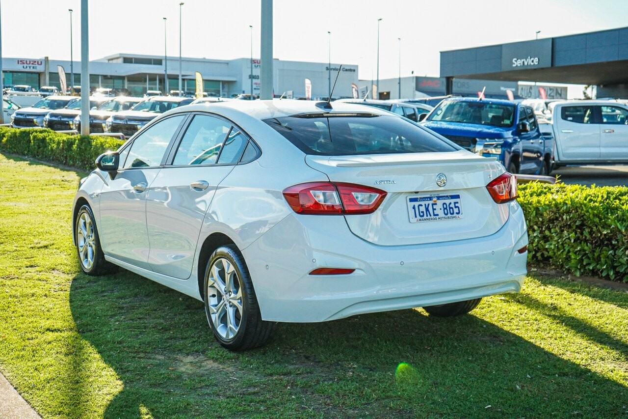
M107 150L117 150L123 143L124 141L114 137L0 127L0 151L84 170L94 169L96 157Z

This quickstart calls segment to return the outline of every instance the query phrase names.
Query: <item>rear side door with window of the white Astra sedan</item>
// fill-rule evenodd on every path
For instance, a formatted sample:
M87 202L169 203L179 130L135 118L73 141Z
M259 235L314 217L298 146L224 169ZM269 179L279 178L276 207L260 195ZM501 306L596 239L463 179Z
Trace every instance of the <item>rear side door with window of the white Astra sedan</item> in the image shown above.
M205 213L247 142L227 120L202 113L193 116L169 164L148 191L148 262L153 271L178 279L190 277Z

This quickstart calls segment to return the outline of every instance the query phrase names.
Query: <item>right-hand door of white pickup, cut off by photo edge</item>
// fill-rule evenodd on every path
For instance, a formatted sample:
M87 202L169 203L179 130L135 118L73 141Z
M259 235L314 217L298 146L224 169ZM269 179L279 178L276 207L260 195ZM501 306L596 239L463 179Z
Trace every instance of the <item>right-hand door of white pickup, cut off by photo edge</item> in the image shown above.
M621 106L599 106L600 159L628 160L628 109Z

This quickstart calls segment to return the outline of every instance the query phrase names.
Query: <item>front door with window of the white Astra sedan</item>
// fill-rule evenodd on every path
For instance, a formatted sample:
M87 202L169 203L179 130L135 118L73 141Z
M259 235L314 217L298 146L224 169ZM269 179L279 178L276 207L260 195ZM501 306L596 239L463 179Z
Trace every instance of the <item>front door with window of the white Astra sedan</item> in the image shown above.
M146 190L161 170L171 139L183 115L155 123L121 150L121 169L106 176L100 191L100 243L104 253L149 269L146 230Z

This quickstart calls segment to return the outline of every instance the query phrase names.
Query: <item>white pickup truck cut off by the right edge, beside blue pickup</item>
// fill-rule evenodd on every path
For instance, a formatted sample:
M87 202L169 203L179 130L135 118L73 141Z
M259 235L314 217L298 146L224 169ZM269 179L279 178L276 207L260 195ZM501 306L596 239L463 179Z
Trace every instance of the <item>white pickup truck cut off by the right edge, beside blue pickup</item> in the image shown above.
M558 102L552 121L555 167L628 163L628 106L601 100Z

